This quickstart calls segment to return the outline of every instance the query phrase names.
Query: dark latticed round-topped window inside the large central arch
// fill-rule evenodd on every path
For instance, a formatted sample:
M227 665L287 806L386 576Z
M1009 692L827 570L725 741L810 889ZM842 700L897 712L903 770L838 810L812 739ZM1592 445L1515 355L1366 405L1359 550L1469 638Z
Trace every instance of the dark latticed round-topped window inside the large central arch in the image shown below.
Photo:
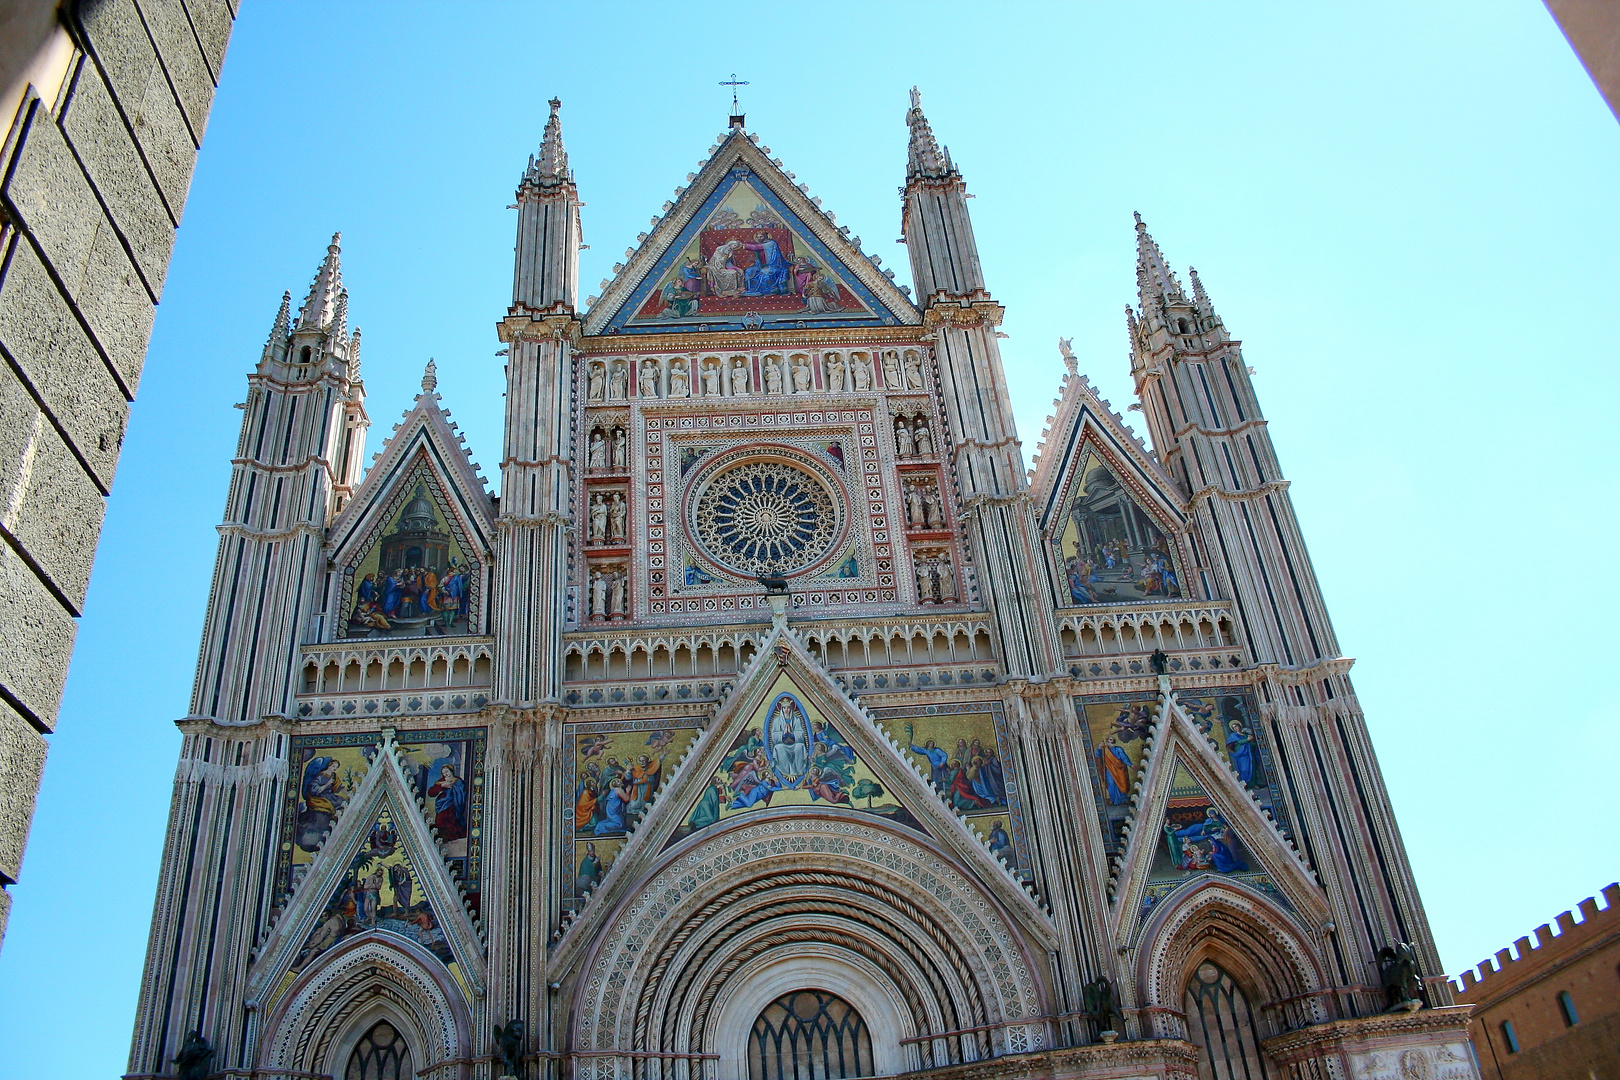
M748 1033L748 1080L844 1080L875 1072L867 1022L823 989L782 994Z

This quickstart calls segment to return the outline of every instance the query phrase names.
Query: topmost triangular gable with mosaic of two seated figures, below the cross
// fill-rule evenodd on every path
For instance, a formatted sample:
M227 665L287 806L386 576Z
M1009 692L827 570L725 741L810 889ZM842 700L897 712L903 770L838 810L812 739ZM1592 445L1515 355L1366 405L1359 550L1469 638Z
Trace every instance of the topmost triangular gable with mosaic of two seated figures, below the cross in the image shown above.
M732 131L664 204L591 298L586 334L920 322L894 272L880 270L757 139Z

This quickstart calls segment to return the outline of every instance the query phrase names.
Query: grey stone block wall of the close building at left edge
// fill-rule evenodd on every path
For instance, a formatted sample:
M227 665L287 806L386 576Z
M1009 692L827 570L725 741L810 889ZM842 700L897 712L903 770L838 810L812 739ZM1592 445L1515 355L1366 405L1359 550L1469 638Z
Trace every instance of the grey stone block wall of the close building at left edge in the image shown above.
M0 5L0 933L238 6Z

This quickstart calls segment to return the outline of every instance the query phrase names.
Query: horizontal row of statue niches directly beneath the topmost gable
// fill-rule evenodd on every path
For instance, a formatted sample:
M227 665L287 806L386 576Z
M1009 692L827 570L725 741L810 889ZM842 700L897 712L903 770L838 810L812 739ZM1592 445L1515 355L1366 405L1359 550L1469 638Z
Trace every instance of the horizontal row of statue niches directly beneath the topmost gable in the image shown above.
M915 348L828 350L755 356L625 356L585 361L585 403L632 398L784 397L794 393L919 392L927 387Z

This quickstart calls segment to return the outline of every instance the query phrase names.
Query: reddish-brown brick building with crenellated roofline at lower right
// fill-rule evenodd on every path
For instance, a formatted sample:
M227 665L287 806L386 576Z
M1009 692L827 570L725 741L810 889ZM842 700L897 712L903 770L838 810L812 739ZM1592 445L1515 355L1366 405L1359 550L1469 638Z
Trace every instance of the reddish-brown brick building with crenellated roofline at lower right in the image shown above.
M1565 912L1554 933L1536 928L1463 972L1456 993L1474 1007L1469 1035L1487 1080L1620 1078L1620 884L1581 900L1581 921ZM1513 954L1518 952L1515 957Z

